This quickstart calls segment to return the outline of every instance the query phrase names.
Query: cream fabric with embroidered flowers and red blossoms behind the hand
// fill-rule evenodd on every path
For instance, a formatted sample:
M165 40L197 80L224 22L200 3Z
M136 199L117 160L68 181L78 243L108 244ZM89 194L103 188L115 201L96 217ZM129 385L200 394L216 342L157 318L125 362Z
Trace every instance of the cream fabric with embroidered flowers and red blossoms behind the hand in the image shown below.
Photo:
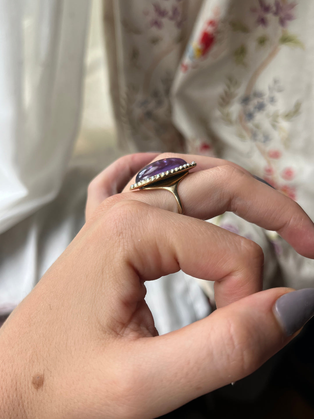
M314 220L314 2L104 4L121 143L233 161ZM262 246L265 287L314 285L314 261L276 233L231 213L212 221Z

